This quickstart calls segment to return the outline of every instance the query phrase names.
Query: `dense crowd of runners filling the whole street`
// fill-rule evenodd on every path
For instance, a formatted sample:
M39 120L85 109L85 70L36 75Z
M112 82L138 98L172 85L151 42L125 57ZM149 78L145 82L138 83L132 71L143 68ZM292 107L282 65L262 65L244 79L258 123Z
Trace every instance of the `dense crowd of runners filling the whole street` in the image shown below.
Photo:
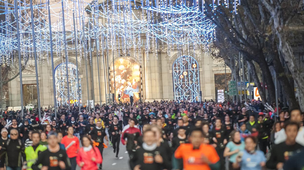
M5 110L0 169L102 169L103 149L126 146L134 170L302 170L303 113L261 101L154 101ZM268 108L269 109L269 108ZM278 113L278 114L277 114ZM107 155L109 156L109 155ZM129 169L128 168L128 169Z

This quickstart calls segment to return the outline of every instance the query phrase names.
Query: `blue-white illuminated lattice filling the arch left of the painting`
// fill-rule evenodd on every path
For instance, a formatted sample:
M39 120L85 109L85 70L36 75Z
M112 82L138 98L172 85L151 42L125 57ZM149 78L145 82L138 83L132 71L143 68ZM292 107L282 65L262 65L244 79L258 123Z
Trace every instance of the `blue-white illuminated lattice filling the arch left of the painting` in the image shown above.
M70 103L81 104L81 78L79 77L79 94L77 94L77 74L79 71L76 69L76 65L73 63L67 64L68 76L69 76L69 86L70 86ZM68 105L68 94L67 94L67 76L66 76L66 65L65 63L59 64L55 69L55 84L56 84L56 98L57 106Z

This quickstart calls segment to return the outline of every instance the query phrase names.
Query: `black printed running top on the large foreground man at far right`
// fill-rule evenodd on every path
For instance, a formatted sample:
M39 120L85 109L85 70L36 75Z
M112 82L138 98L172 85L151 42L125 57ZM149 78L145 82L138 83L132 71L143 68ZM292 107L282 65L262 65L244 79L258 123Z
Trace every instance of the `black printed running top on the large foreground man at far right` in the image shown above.
M269 160L266 162L266 167L275 169L279 162L284 163L293 155L299 153L303 148L302 145L295 143L293 145L286 145L285 142L274 145L271 148L271 155Z

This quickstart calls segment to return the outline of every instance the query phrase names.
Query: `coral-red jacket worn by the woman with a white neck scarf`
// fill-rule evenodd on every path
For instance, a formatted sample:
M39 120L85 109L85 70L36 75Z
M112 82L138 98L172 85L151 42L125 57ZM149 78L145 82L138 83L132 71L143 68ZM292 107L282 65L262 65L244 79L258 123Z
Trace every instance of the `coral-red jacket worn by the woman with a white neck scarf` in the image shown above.
M80 166L81 162L85 163L81 167L81 170L97 170L97 164L102 163L102 157L99 149L97 147L93 147L93 149L88 152L85 152L83 150L83 147L80 148L76 157L76 162L78 166ZM95 161L92 161L92 158L95 158Z

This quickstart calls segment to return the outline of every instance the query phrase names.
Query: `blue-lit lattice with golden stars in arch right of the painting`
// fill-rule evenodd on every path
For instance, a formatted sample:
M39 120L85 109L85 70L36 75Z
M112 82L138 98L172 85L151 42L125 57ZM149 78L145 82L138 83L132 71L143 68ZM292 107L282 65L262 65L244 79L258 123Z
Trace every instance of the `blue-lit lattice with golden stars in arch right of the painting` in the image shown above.
M178 102L199 98L199 64L191 56L178 57L172 66L174 99Z

